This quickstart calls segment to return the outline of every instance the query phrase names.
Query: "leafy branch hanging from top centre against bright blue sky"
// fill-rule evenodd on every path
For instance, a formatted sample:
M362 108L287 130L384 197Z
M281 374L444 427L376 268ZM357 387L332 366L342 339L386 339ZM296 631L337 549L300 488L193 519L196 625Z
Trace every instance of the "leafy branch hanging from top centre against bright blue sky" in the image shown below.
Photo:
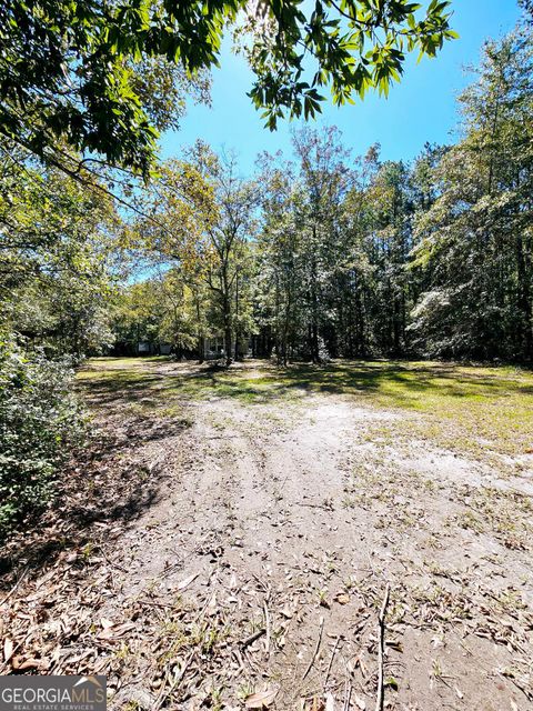
M250 4L250 3L248 3ZM258 2L248 11L244 51L257 74L250 92L274 129L286 113L314 117L329 88L336 106L363 98L370 89L388 94L400 81L408 52L434 57L451 30L450 2L432 0L319 0L306 12L298 0ZM308 66L314 61L314 71Z

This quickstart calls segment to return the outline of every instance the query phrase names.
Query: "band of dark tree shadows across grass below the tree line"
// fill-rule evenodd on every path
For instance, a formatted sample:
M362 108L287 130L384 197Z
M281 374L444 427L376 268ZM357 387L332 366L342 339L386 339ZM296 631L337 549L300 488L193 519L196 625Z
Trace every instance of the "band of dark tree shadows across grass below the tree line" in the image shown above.
M258 367L252 372L253 365ZM403 361L334 362L319 367L294 364L282 369L261 362L234 369L209 365L169 368L153 372L109 370L86 381L89 399L117 407L141 403L150 409L171 398L203 400L235 398L244 402L269 402L313 393L351 394L385 400L390 407L420 409L434 395L456 401L533 393L529 382L519 382L509 372L489 368L457 367L453 363Z

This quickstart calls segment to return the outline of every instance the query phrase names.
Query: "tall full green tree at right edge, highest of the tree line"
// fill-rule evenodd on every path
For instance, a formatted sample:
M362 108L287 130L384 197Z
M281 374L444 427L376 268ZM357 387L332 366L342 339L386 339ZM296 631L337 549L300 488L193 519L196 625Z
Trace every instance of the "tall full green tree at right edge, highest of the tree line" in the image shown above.
M461 97L463 139L436 169L440 196L418 220L426 291L412 330L426 352L533 359L533 40L485 46Z

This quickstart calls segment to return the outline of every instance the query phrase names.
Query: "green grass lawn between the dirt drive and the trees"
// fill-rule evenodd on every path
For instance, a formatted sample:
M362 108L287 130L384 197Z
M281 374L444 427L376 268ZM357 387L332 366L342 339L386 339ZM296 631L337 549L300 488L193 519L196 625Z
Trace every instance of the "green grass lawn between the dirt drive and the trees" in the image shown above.
M92 359L80 385L101 403L171 413L183 400L304 402L313 394L349 397L359 407L418 413L382 434L436 440L451 449L523 454L533 448L533 372L512 367L425 361L339 361L286 369L249 361L229 370L173 363L165 357ZM392 425L391 425L392 427Z

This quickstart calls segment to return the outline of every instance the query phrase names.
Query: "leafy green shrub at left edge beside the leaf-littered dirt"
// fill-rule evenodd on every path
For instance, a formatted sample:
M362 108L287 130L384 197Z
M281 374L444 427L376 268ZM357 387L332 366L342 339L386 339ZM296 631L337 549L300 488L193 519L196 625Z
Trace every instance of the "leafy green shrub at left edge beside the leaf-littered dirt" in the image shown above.
M82 433L66 361L26 353L0 336L0 538L41 511Z

